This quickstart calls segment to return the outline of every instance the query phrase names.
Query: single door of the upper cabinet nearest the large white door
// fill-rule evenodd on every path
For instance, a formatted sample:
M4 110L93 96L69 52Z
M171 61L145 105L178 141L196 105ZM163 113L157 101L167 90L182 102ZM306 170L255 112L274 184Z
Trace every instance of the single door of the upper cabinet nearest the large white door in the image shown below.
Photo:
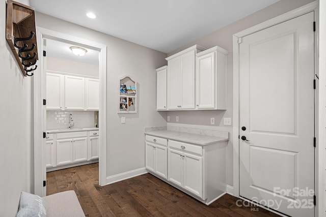
M211 52L196 58L197 109L215 108L215 54L216 52Z

